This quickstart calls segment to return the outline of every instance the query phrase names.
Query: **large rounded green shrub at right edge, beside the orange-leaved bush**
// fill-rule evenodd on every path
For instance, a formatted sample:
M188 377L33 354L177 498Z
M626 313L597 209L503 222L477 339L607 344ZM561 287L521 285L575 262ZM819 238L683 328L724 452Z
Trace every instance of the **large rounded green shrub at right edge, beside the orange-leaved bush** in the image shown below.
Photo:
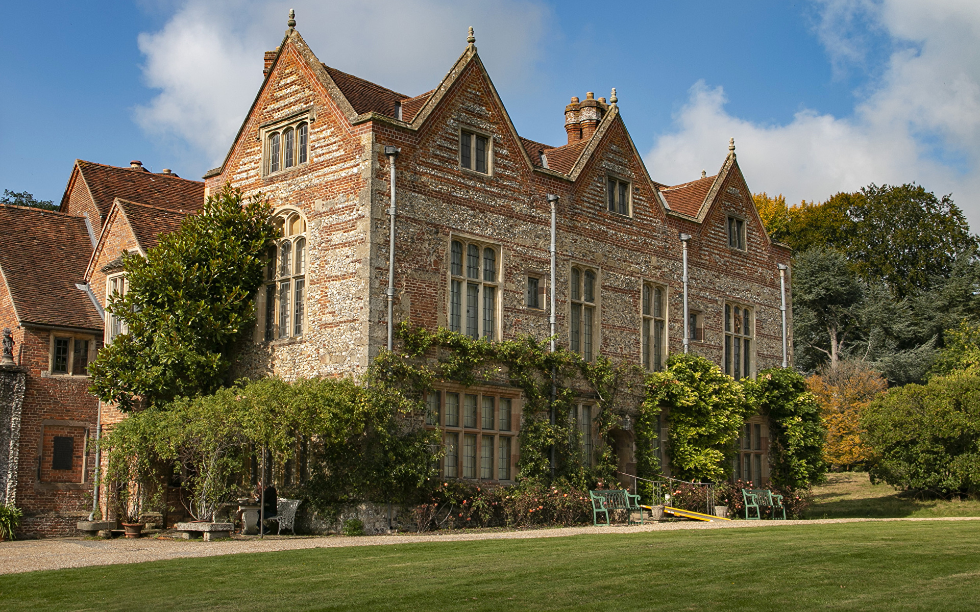
M980 485L980 376L937 376L872 401L861 426L868 472L907 490L966 494Z

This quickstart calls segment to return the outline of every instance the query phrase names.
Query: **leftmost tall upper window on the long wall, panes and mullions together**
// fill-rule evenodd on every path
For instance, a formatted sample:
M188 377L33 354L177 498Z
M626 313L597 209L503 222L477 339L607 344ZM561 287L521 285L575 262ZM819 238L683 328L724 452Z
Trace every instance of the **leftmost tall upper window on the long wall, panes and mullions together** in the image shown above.
M470 338L497 338L500 286L497 249L454 240L449 258L449 329Z

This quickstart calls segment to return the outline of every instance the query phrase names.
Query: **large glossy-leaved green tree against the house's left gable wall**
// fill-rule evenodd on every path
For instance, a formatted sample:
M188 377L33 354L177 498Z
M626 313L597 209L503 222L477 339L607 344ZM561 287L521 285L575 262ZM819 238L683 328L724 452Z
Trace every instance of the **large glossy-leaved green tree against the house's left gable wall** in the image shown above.
M128 331L91 365L93 395L128 411L140 398L160 405L225 382L229 352L255 322L270 215L264 198L226 186L145 259L123 253L129 289L107 309Z

